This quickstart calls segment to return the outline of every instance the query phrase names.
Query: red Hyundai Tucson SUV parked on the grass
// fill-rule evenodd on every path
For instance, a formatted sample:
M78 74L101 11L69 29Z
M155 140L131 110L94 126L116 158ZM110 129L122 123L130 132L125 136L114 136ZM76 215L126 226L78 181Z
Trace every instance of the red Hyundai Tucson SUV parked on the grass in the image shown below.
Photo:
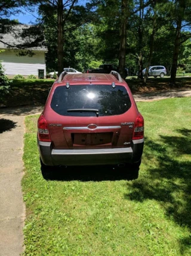
M118 72L64 71L53 83L38 119L41 170L114 165L138 175L143 144L143 116Z

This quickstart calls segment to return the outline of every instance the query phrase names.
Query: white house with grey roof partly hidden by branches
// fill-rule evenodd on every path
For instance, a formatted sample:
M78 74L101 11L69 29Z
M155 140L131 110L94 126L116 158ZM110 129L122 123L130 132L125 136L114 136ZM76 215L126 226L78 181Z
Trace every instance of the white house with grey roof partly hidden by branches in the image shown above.
M10 78L17 74L24 77L29 75L38 78L46 77L45 53L47 47L38 46L26 49L30 50L32 55L20 56L19 54L21 50L18 49L17 45L24 43L24 40L18 35L24 28L28 27L29 25L15 25L11 31L6 31L6 33L0 31L0 50L4 50L0 53L0 61L4 66L5 74ZM29 41L29 38L26 38L26 40Z

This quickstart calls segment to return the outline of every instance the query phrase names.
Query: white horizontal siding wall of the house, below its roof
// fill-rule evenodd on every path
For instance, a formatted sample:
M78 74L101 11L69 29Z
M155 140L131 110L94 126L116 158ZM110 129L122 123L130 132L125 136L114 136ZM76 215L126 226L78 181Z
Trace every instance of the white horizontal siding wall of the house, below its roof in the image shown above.
M45 53L35 52L35 55L19 56L16 50L5 50L0 53L0 59L7 75L23 75L33 74L38 76L38 70L44 70L46 76Z

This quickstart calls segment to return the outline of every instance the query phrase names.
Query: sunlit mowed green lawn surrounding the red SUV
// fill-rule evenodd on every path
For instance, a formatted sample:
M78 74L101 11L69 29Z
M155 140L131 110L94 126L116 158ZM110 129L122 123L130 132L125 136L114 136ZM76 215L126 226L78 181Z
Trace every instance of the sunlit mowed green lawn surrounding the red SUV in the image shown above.
M136 180L109 167L60 168L45 180L38 116L26 118L24 255L191 255L191 98L137 105L145 144Z

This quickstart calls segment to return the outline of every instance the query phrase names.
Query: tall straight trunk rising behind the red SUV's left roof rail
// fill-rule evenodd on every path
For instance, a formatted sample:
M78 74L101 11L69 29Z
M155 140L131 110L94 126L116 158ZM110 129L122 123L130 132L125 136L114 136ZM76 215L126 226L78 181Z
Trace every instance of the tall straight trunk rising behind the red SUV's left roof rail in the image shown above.
M58 0L57 5L57 29L58 29L58 49L57 49L57 58L58 58L58 76L63 72L64 64L64 37L63 37L63 0Z

